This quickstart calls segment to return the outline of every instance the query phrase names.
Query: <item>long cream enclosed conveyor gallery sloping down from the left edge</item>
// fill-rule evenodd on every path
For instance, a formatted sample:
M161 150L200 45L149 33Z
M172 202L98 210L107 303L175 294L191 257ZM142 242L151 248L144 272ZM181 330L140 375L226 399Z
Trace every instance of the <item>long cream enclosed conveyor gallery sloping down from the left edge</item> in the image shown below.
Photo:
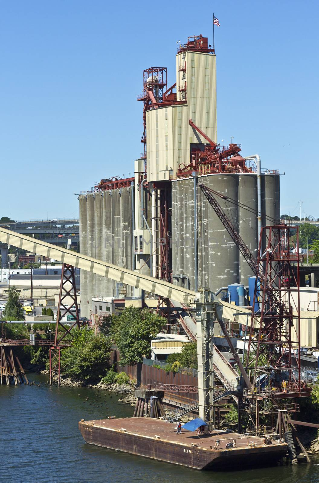
M160 297L172 298L184 304L194 303L196 294L192 290L132 270L117 267L111 263L103 262L91 256L82 255L42 240L36 240L27 235L7 230L6 228L0 227L0 242L8 243L28 252L53 258L59 262L73 265L73 267L78 267L81 270L87 270L97 275L102 275L102 277L108 277L116 280L116 282L131 285Z

